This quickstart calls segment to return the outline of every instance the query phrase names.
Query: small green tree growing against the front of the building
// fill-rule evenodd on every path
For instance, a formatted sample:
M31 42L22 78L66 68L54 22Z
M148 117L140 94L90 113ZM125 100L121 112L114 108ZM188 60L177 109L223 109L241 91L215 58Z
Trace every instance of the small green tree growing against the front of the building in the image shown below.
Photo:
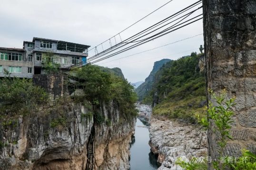
M59 70L60 64L59 62L55 63L56 60L59 61L59 58L53 55L51 52L46 52L42 54L42 68L47 74Z

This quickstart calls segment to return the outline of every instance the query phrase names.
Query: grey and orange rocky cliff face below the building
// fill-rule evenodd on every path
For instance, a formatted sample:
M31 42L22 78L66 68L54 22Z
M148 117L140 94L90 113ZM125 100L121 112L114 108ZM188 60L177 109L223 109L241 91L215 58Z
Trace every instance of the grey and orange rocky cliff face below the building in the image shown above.
M0 170L128 170L135 118L122 118L114 103L97 108L108 121L90 109L65 101L2 127ZM52 124L57 119L61 125Z

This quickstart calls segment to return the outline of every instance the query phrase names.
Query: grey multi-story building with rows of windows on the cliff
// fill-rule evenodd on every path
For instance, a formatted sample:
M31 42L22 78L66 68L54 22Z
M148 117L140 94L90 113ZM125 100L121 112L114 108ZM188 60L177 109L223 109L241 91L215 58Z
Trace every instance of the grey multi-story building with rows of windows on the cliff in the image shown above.
M53 54L52 62L59 63L61 69L84 61L88 56L89 45L34 37L32 42L24 41L23 48L0 47L0 77L4 69L11 76L33 78L33 74L44 74L42 62L44 54Z

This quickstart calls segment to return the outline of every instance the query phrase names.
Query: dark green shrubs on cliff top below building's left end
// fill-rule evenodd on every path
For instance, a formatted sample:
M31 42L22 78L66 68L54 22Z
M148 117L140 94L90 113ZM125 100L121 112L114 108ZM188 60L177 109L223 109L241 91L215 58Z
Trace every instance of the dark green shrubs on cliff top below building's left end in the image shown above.
M5 70L5 69L4 69ZM0 80L0 116L27 115L38 105L48 102L48 94L40 87L32 86L32 80L10 77ZM6 117L4 117L6 118Z

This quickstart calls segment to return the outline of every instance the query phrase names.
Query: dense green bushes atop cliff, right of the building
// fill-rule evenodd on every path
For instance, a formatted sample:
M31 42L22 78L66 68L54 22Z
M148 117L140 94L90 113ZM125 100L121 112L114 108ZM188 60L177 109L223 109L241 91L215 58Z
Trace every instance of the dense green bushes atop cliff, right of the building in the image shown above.
M137 115L135 103L138 98L134 87L127 80L102 72L97 65L88 65L79 69L76 71L76 76L84 82L82 86L85 95L75 96L75 100L76 98L79 98L79 102L87 100L93 105L99 105L103 101L109 103L113 100L118 105L120 116L129 118ZM96 118L101 120L97 114Z

